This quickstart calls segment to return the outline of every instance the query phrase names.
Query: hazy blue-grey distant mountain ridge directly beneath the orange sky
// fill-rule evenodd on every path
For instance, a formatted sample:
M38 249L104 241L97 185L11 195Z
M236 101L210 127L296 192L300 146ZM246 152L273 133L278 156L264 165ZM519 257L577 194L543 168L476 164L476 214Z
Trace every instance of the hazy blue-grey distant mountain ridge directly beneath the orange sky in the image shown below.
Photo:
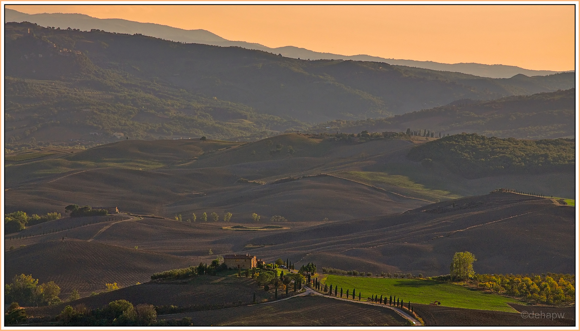
M40 26L54 26L65 29L67 27L78 28L79 30L90 31L93 28L104 30L108 32L127 33L127 34L144 34L151 37L169 39L172 41L188 42L195 44L207 44L215 46L240 46L248 49L259 49L260 51L281 54L285 57L293 57L298 59L342 59L342 60L358 60L358 61L372 61L385 62L396 66L418 67L423 69L432 69L440 71L453 71L481 77L491 78L510 78L513 75L524 74L527 76L534 75L550 75L561 73L563 71L550 70L529 70L516 66L506 66L504 64L480 64L480 63L438 63L432 61L416 61L403 59L385 59L378 56L370 55L338 55L333 53L314 52L309 49L299 48L296 46L283 46L278 48L270 48L264 45L245 42L245 41L230 41L219 37L209 31L184 30L155 23L140 23L136 21L129 21L123 19L97 19L84 14L63 14L63 13L42 13L29 15L21 13L13 9L5 9L5 23L9 21L29 21L37 23ZM569 72L569 71L568 71Z

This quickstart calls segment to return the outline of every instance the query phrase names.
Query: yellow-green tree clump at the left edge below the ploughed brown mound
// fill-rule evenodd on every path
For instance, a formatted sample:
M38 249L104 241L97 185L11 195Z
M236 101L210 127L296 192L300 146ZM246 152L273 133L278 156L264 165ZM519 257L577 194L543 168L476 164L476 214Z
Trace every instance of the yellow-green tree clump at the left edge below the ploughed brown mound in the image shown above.
M38 285L38 279L32 275L15 275L12 283L4 287L4 297L7 303L17 303L24 306L41 306L60 303L60 287L52 280Z

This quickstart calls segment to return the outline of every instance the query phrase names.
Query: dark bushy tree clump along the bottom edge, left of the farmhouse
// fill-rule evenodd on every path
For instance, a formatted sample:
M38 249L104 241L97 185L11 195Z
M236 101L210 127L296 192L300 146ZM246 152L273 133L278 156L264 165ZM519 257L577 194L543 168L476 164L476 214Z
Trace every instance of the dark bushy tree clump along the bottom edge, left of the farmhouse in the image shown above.
M157 322L157 311L150 304L116 300L95 310L67 305L57 319L63 326L150 326Z

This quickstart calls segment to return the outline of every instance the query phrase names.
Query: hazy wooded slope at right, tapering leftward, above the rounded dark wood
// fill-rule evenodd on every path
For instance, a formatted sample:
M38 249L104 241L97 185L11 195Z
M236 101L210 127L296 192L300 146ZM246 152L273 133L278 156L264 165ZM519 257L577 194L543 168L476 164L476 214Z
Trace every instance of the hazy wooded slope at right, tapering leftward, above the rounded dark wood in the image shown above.
M571 88L530 96L506 96L490 101L463 99L445 106L387 118L335 120L318 124L309 130L350 133L363 130L405 131L411 128L412 131L428 129L443 134L477 132L501 138L573 137L575 95L575 89Z

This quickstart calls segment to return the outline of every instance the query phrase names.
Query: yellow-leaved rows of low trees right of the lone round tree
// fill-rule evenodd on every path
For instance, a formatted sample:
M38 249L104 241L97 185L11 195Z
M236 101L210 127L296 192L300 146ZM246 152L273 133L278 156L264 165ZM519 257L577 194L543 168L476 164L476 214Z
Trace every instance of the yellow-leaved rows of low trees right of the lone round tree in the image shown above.
M575 302L574 275L475 275L477 286L494 293L520 297L531 303Z

